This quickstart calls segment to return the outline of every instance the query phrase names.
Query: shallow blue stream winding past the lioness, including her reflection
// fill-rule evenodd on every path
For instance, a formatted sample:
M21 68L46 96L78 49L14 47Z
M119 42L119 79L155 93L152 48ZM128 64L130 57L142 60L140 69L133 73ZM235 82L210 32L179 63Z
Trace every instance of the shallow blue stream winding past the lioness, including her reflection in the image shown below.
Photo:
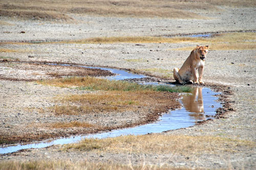
M68 65L67 65L68 66ZM82 66L83 67L83 66ZM90 67L99 68L99 67ZM127 78L143 78L143 75L131 74L124 70L112 69L112 68L100 68L110 70L115 74L115 77L109 79L123 80ZM156 84L156 83L155 83ZM161 83L163 84L163 83ZM165 84L168 85L168 84ZM105 133L89 134L89 135L77 135L68 138L54 139L51 141L13 145L9 147L0 148L0 154L12 153L22 149L31 148L45 148L54 144L67 144L78 142L83 138L106 138L116 137L121 135L143 135L148 133L160 133L167 130L174 130L179 128L186 128L193 126L196 123L206 120L216 114L216 109L222 107L220 103L216 102L218 99L217 92L212 91L206 87L195 87L193 92L182 94L180 102L183 107L179 110L169 111L163 114L158 122L152 124L146 124L137 126L134 128L126 128L120 130L113 130Z

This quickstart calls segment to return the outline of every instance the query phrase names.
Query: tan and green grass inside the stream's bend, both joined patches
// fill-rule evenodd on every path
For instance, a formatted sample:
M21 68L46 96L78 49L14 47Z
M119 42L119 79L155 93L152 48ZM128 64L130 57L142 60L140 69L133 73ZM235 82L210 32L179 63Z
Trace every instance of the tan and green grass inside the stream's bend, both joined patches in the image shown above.
M50 111L57 115L80 115L129 110L164 112L168 108L180 106L179 102L176 101L177 94L169 92L188 92L191 90L187 86L143 86L137 83L110 81L92 77L62 78L38 81L38 83L59 87L78 87L85 90L101 90L97 93L59 96L55 100L61 105L49 108Z

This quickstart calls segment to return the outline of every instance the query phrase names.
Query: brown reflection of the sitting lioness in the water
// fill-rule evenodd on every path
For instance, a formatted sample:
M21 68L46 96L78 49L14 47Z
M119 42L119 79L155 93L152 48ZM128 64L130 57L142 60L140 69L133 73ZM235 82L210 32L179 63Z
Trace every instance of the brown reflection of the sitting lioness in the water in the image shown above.
M189 115L195 117L195 119L204 120L204 104L202 87L196 87L192 94L183 95L182 103L184 108L191 112Z

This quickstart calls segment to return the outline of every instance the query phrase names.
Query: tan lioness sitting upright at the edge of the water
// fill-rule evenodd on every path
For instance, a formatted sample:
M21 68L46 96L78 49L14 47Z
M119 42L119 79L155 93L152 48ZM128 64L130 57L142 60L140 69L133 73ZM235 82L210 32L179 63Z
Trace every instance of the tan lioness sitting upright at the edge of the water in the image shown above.
M209 46L199 46L191 51L189 57L183 63L181 68L174 68L174 79L176 82L181 84L186 83L200 83L203 82L203 69L204 69L204 60L208 53ZM198 69L198 73L196 72Z

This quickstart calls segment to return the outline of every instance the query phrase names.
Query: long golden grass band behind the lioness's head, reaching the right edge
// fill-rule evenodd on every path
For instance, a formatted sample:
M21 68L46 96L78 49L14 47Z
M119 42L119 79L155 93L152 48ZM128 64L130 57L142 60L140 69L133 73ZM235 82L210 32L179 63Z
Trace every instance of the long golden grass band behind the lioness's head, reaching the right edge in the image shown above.
M47 42L47 43L81 43L81 44L93 44L93 43L204 43L204 44L219 44L228 43L232 44L252 44L256 43L256 33L223 33L216 34L211 38L201 37L94 37L72 41L62 42Z

